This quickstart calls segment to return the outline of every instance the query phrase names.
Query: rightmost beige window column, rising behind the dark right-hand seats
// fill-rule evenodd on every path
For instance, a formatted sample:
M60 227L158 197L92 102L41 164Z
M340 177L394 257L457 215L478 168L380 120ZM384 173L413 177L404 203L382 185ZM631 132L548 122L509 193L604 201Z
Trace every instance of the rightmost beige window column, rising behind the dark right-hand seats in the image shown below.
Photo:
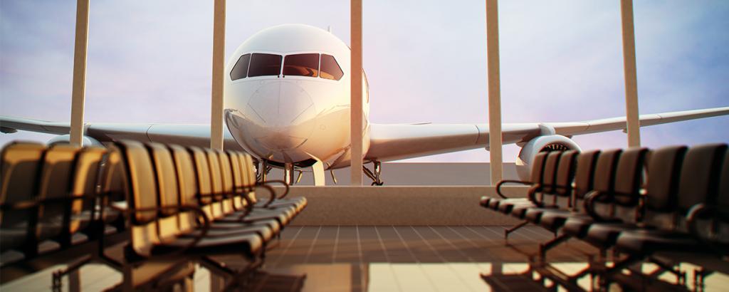
M633 23L633 0L620 0L623 23L623 69L625 71L625 117L628 122L628 147L640 147L638 118L638 77L636 72L636 37Z

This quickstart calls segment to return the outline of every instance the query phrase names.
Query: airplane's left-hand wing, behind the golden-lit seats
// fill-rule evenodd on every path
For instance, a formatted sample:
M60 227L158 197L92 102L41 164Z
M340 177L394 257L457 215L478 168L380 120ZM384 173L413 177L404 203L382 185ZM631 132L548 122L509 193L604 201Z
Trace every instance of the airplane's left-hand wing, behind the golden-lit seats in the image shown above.
M164 142L185 146L210 146L210 126L205 124L163 124L163 123L87 123L85 135L99 142L132 139L141 142ZM0 131L12 133L17 130L46 134L69 134L69 123L48 122L27 118L0 116ZM227 130L225 148L243 150Z

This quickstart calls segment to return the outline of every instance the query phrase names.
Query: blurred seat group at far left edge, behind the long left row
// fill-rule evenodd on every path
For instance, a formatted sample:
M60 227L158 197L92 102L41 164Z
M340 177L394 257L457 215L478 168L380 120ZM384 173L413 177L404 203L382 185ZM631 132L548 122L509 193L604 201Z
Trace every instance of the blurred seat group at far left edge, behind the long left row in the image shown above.
M120 239L125 226L119 212L98 204L123 199L120 181L112 178L119 171L117 162L103 147L45 147L28 142L4 147L0 162L3 282L54 263L85 259L104 234L109 243Z

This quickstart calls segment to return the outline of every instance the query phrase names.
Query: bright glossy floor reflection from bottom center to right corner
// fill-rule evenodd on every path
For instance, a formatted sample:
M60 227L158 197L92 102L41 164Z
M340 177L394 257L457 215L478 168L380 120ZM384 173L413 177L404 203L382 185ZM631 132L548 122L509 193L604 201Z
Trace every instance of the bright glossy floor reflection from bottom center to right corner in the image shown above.
M553 265L566 274L577 274L588 266L581 262ZM643 266L644 272L656 268L652 264ZM687 264L682 268L688 273L696 269ZM529 273L527 263L295 264L268 270L306 274L302 291L547 291L534 280L537 275ZM663 280L675 278L666 274ZM589 291L590 277L582 277L577 284ZM693 290L693 283L689 284ZM706 291L722 291L727 285L726 274L706 278Z

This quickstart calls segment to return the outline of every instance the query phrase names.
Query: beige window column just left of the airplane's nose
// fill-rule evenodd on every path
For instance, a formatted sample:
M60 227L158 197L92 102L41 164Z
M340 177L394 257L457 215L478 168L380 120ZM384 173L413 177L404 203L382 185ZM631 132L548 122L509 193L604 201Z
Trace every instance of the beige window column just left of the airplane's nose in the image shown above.
M225 0L215 0L213 18L213 82L210 147L223 149L223 85L225 75Z

